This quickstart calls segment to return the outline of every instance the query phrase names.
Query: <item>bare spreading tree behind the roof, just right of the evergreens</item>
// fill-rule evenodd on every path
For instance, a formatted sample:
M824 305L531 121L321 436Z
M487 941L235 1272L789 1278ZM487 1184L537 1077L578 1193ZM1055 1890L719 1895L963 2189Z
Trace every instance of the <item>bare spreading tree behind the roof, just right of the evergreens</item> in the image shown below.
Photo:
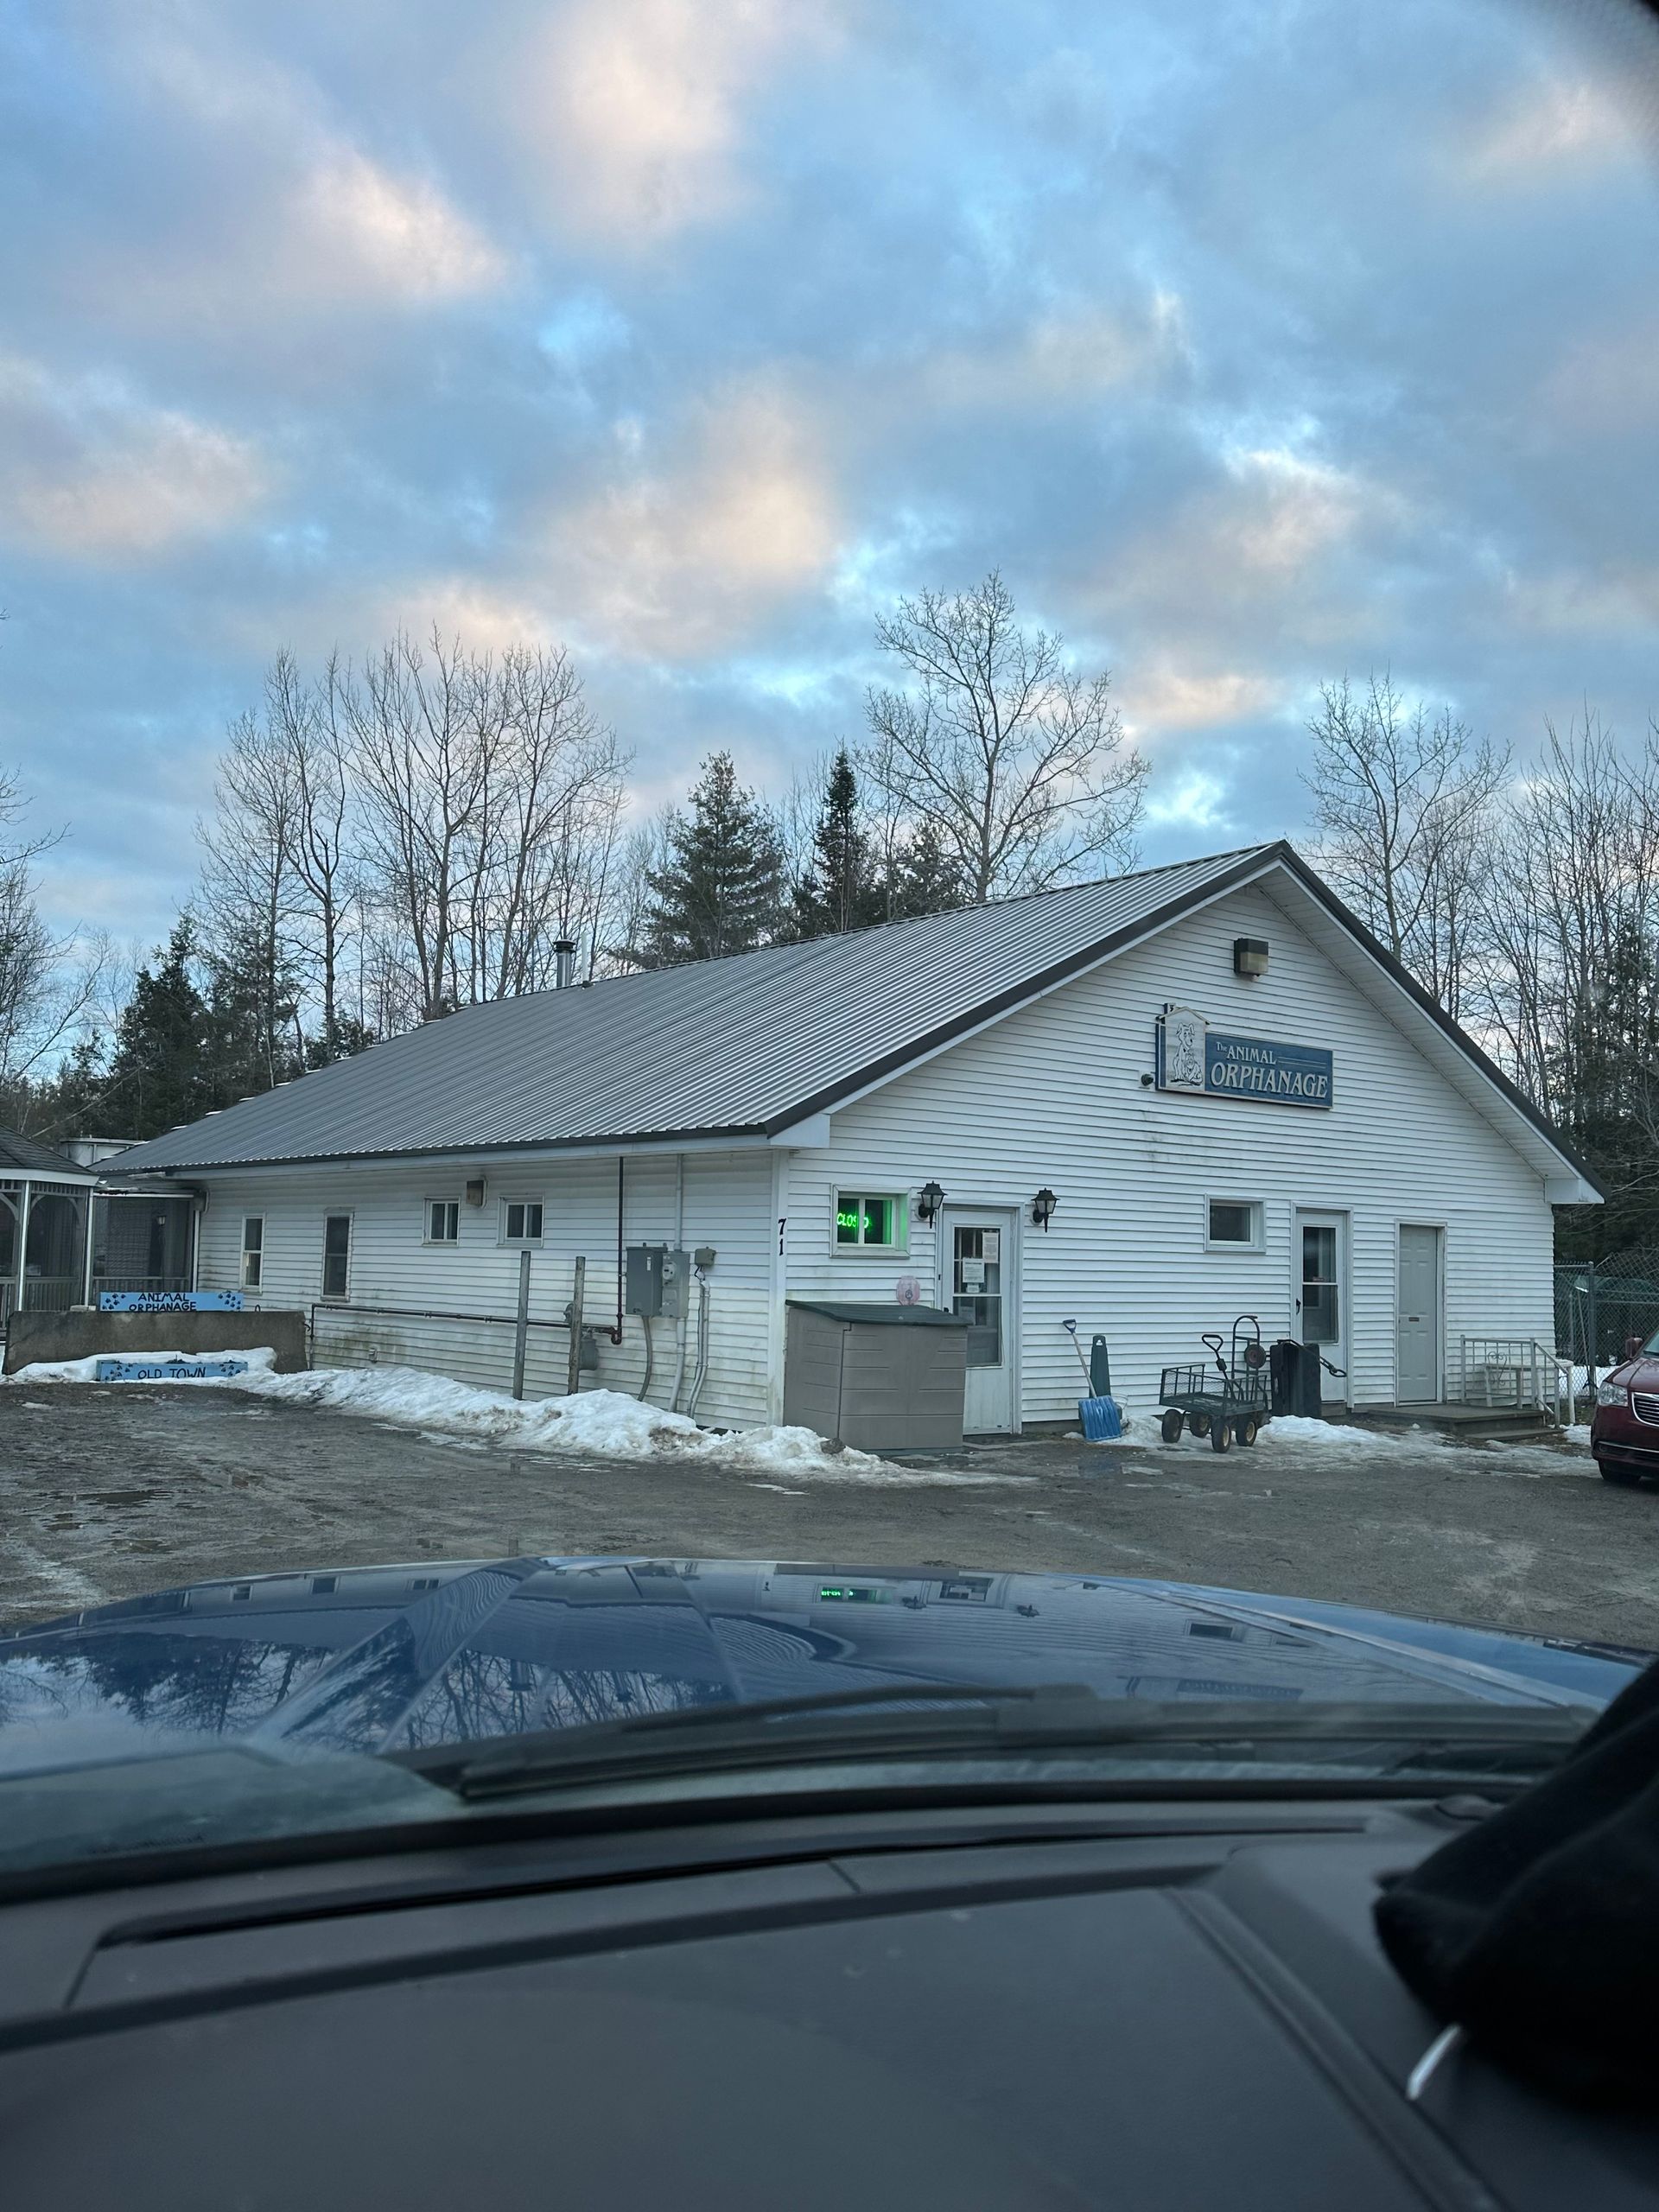
M931 830L975 900L1133 856L1146 763L1110 681L1077 675L1048 630L1022 630L995 571L973 591L900 599L876 644L907 681L869 690L860 765L894 825Z

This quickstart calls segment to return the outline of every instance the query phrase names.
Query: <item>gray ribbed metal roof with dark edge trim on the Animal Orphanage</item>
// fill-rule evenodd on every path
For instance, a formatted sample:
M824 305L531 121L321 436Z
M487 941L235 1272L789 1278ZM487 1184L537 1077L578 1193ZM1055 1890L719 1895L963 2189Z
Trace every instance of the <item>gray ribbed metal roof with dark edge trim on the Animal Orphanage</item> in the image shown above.
M122 1155L122 1172L770 1137L1274 865L1343 914L1559 1146L1287 845L1250 845L807 945L465 1006L142 1144Z

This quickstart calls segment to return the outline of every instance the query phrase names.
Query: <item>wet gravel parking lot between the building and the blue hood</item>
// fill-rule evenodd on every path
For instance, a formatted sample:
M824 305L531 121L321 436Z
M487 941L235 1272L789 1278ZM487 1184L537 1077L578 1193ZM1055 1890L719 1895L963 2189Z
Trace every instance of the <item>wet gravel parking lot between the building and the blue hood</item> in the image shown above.
M1159 1575L1659 1646L1659 1491L1582 1447L1022 1440L878 1478L460 1442L215 1389L0 1391L0 1621L502 1553Z

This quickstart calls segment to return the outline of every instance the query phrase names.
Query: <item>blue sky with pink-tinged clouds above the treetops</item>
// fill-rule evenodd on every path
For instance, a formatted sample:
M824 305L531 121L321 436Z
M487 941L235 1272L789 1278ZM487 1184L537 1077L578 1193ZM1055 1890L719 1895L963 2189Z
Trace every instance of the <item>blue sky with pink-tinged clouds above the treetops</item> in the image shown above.
M230 714L564 639L639 803L1000 564L1294 834L1323 677L1659 708L1646 33L1528 0L0 0L0 763L155 936Z

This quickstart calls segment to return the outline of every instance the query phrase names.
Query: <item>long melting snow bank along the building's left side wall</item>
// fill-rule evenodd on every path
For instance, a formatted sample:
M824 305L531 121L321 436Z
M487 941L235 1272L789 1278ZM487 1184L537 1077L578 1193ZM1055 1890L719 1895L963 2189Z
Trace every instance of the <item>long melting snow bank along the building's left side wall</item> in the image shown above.
M146 1352L146 1360L177 1358L173 1352ZM239 1376L204 1376L168 1383L168 1389L241 1389L259 1398L285 1398L290 1405L321 1405L338 1413L361 1413L394 1422L400 1429L425 1429L429 1436L456 1436L487 1444L511 1444L515 1451L580 1451L611 1460L708 1460L721 1467L763 1469L818 1482L878 1484L989 1484L1020 1480L1011 1475L962 1475L891 1467L869 1451L832 1451L812 1429L699 1429L686 1413L659 1405L641 1405L613 1389L588 1389L575 1398L507 1398L502 1391L473 1389L418 1367L312 1367L305 1374L272 1371L270 1349L237 1352L248 1360ZM40 1360L20 1367L7 1383L95 1383L97 1358ZM111 1389L144 1389L142 1383L108 1385Z

